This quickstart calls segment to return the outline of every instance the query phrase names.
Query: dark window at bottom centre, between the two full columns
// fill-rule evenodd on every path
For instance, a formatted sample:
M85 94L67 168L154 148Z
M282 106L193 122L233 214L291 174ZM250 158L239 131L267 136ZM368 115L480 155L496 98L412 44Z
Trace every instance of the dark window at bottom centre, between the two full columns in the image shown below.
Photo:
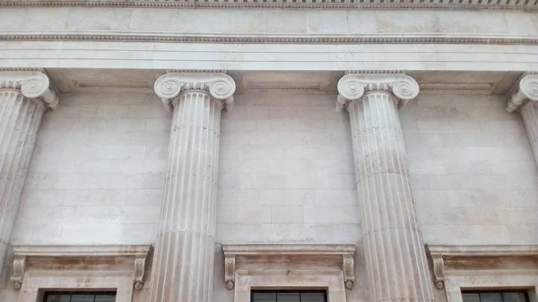
M250 302L326 302L323 290L253 290Z

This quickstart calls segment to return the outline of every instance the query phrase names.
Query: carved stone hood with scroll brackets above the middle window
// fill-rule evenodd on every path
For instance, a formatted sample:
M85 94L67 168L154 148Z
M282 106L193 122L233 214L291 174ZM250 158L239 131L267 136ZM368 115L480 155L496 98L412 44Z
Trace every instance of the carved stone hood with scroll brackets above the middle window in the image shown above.
M352 289L355 282L354 245L308 245L308 244L230 244L222 245L224 252L224 282L227 289L233 289L237 263L248 263L259 257L273 260L300 256L303 261L309 257L323 261L323 258L337 256L342 261L340 269L346 289ZM238 264L239 264L238 263ZM308 269L306 267L305 269Z

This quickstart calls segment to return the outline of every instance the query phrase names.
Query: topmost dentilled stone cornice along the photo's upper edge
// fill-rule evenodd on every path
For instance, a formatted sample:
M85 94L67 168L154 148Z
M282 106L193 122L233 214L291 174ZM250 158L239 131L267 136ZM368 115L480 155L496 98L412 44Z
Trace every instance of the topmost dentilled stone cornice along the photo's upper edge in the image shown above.
M355 0L348 3L333 1L304 0L301 2L288 2L285 0L270 0L255 2L252 0L1 0L1 6L86 6L86 7L160 7L160 8L276 8L276 9L371 9L371 10L538 10L538 4L533 1L508 2L507 4L476 3L473 0L463 0L460 3L452 1L432 0L405 0L399 3L390 3L384 0Z

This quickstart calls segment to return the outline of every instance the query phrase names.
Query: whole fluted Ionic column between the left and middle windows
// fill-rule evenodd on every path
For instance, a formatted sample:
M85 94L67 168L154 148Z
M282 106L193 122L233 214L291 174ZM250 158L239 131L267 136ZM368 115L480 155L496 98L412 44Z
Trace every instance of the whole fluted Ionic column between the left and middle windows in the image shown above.
M151 302L211 302L221 109L226 74L167 73L155 92L173 110Z

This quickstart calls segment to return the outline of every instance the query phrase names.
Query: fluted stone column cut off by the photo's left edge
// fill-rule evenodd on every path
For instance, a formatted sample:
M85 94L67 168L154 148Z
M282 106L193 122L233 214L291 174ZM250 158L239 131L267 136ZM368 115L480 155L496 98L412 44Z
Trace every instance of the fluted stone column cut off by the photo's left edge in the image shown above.
M40 72L0 72L0 272L41 117L58 99Z

